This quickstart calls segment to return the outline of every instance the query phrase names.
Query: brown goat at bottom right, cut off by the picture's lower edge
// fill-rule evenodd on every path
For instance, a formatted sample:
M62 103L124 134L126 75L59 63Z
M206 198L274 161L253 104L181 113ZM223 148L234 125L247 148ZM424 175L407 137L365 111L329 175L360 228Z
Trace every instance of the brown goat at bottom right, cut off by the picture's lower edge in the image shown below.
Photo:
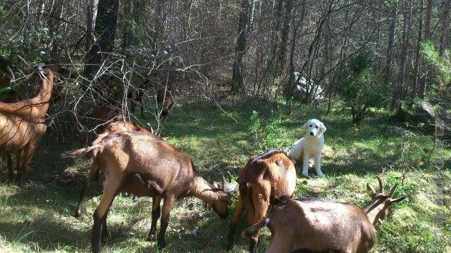
M395 202L405 198L392 198L397 185L384 194L382 181L377 179L378 193L366 184L371 204L364 210L316 198L290 200L275 207L243 235L254 236L268 226L272 235L266 252L369 252L376 242L376 223L385 219Z

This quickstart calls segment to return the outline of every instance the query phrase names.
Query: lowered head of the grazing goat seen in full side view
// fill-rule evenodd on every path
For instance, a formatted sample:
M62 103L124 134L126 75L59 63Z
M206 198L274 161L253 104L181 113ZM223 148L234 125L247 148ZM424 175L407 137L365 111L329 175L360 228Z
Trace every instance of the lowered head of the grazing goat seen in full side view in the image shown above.
M216 212L216 214L218 214L222 219L226 219L228 216L228 206L232 204L229 193L237 188L237 183L232 183L232 175L229 171L227 171L229 176L228 183L226 183L226 177L221 171L219 171L219 174L221 174L222 177L222 187L218 188L216 184L214 191L217 193L218 199L211 203L211 207L213 207L214 212Z

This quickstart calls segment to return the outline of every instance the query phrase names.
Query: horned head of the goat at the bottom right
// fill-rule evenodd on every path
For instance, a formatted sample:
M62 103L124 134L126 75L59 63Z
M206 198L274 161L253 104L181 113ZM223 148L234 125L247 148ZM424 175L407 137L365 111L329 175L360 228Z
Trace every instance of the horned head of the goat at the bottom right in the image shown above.
M397 183L390 189L390 192L388 194L383 193L383 183L379 176L376 176L379 183L379 190L376 193L376 190L374 190L373 186L371 186L370 183L366 183L366 189L368 190L369 195L371 196L371 200L374 203L378 203L378 205L383 205L383 211L379 214L378 219L385 219L387 217L388 212L390 212L390 207L395 204L396 202L400 202L401 200L404 200L407 196L402 196L393 199L393 193L395 193Z

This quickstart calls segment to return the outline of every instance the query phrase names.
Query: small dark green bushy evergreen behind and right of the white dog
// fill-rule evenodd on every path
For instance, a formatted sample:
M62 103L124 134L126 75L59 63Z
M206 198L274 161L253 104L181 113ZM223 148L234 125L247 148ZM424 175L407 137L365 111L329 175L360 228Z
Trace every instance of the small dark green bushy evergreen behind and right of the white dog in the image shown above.
M350 59L340 95L352 113L352 123L359 124L370 108L380 108L388 97L387 88L381 85L366 54Z

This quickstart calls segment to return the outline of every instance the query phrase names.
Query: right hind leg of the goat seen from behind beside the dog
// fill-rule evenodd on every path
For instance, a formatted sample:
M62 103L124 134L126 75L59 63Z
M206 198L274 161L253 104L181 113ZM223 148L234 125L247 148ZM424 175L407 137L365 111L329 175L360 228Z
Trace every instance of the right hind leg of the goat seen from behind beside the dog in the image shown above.
M266 216L266 212L268 211L269 207L269 195L270 191L264 187L261 187L258 191L255 191L254 194L252 194L252 202L254 203L254 222L252 223L252 226L254 224L257 224L261 219ZM250 244L249 244L249 252L257 252L257 243L259 242L259 231L257 231L254 235L250 238Z

